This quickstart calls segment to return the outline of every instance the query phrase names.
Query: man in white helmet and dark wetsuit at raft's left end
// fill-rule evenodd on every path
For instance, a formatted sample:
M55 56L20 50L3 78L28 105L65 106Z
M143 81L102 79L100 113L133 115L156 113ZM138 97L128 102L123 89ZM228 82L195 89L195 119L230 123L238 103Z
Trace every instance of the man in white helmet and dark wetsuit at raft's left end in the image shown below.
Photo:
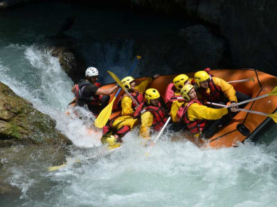
M98 115L107 106L109 95L118 88L118 86L100 88L100 83L96 83L97 80L98 70L93 67L87 68L85 79L81 79L71 90L75 94L76 105L82 107L87 105L94 115Z

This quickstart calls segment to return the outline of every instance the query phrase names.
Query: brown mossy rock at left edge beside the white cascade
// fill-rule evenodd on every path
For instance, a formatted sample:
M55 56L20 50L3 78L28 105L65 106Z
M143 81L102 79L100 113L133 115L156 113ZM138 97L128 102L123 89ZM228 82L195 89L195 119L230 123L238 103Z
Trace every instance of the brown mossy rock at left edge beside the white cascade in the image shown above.
M0 146L11 144L57 144L71 141L55 129L55 121L35 110L0 82Z

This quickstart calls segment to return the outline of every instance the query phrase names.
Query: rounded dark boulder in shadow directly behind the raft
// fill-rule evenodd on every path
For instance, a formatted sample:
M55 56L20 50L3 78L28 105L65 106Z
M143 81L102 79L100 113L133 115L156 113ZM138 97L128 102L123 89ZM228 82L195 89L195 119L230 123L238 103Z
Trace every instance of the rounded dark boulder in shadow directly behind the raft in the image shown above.
M134 54L140 54L140 67L151 74L157 72L192 72L202 68L219 67L226 50L225 41L204 26L190 26L178 35L164 39L136 41ZM158 68L158 69L157 69ZM142 74L143 75L143 74Z

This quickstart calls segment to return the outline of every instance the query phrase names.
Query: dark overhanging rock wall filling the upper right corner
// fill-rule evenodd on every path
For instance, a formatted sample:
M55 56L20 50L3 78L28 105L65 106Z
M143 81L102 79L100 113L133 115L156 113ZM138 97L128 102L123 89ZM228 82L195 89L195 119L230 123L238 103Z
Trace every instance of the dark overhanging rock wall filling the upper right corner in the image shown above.
M276 1L130 1L134 9L179 15L213 28L228 43L232 68L259 68L277 75Z

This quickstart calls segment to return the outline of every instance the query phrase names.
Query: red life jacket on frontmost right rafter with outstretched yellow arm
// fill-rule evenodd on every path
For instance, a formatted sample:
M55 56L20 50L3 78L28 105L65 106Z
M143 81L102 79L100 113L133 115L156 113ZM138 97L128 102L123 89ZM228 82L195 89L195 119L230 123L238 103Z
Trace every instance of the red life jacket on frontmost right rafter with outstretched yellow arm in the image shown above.
M190 132L193 135L195 135L199 132L202 132L202 130L205 127L206 120L195 119L194 121L190 121L190 119L188 119L188 107L190 107L190 105L193 103L199 103L199 105L203 105L198 100L193 100L193 101L188 102L188 104L186 105L186 108L184 109L183 117L184 117L184 122L186 123L186 126L188 127L188 130L190 130Z

